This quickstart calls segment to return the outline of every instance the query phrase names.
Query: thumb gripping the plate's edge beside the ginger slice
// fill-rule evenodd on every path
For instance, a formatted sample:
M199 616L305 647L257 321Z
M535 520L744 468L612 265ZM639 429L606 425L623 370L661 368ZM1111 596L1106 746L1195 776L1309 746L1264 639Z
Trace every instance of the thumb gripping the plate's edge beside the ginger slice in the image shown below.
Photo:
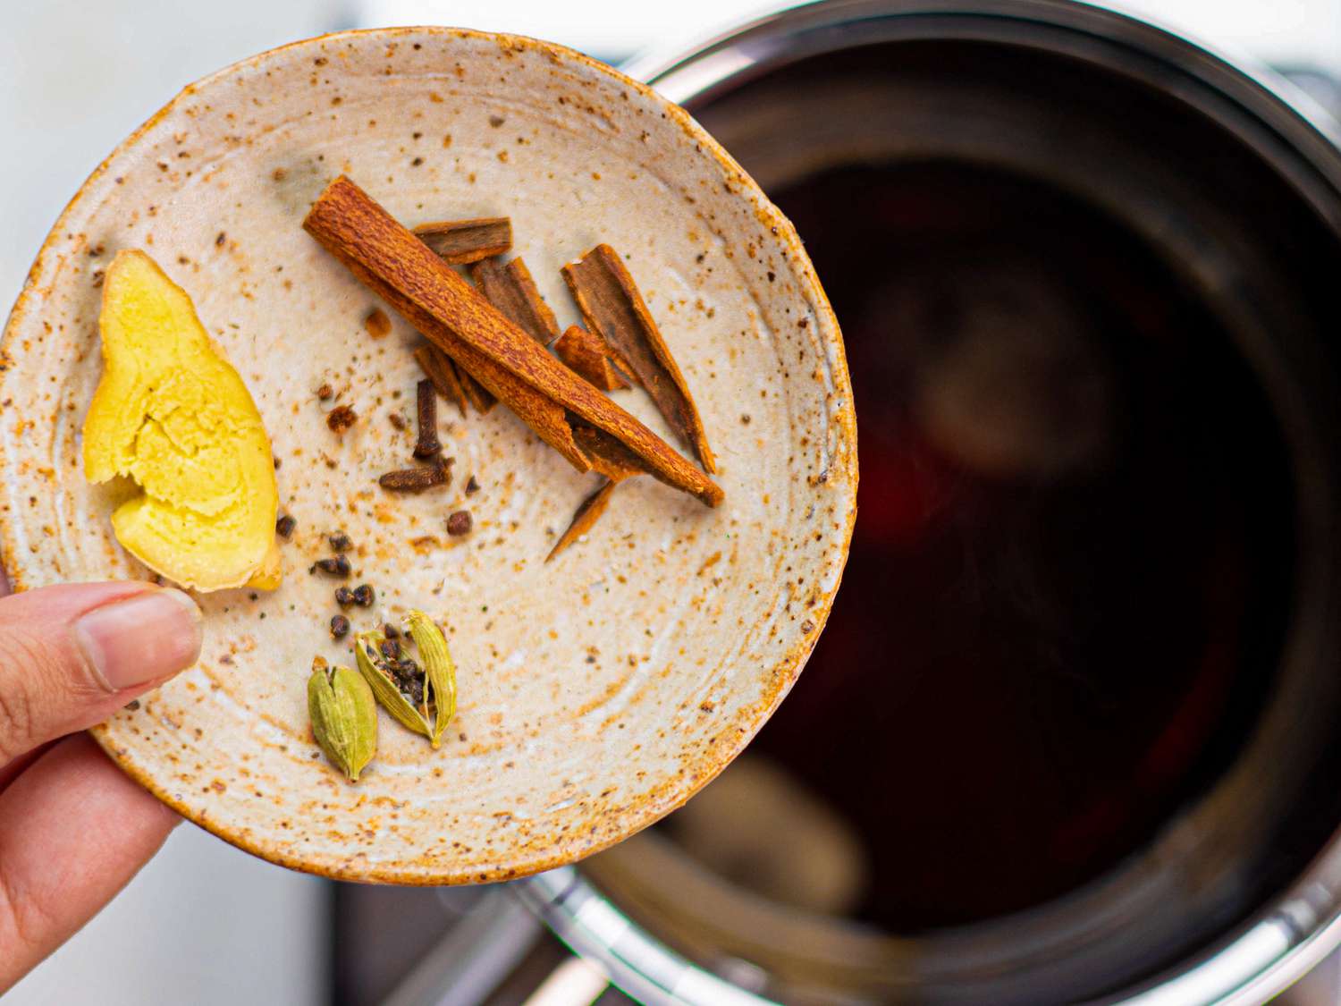
M0 600L0 766L101 723L190 667L201 617L148 583L67 583Z

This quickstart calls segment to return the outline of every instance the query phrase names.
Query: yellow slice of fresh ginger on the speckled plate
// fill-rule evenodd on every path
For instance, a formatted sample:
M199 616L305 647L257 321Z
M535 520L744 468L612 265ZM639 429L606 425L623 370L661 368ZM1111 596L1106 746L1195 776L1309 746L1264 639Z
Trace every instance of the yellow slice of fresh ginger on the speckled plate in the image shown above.
M98 326L84 475L129 476L142 490L113 512L117 539L182 586L278 588L270 437L190 296L152 258L123 251L103 278Z

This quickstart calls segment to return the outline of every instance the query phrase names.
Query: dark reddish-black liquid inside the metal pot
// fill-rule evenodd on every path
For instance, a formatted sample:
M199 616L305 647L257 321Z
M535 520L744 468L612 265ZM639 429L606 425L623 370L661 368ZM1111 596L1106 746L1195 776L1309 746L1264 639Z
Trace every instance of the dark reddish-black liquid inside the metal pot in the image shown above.
M754 751L861 833L856 915L1055 897L1223 769L1289 606L1290 476L1228 335L1101 212L988 169L775 193L843 327L860 514Z

